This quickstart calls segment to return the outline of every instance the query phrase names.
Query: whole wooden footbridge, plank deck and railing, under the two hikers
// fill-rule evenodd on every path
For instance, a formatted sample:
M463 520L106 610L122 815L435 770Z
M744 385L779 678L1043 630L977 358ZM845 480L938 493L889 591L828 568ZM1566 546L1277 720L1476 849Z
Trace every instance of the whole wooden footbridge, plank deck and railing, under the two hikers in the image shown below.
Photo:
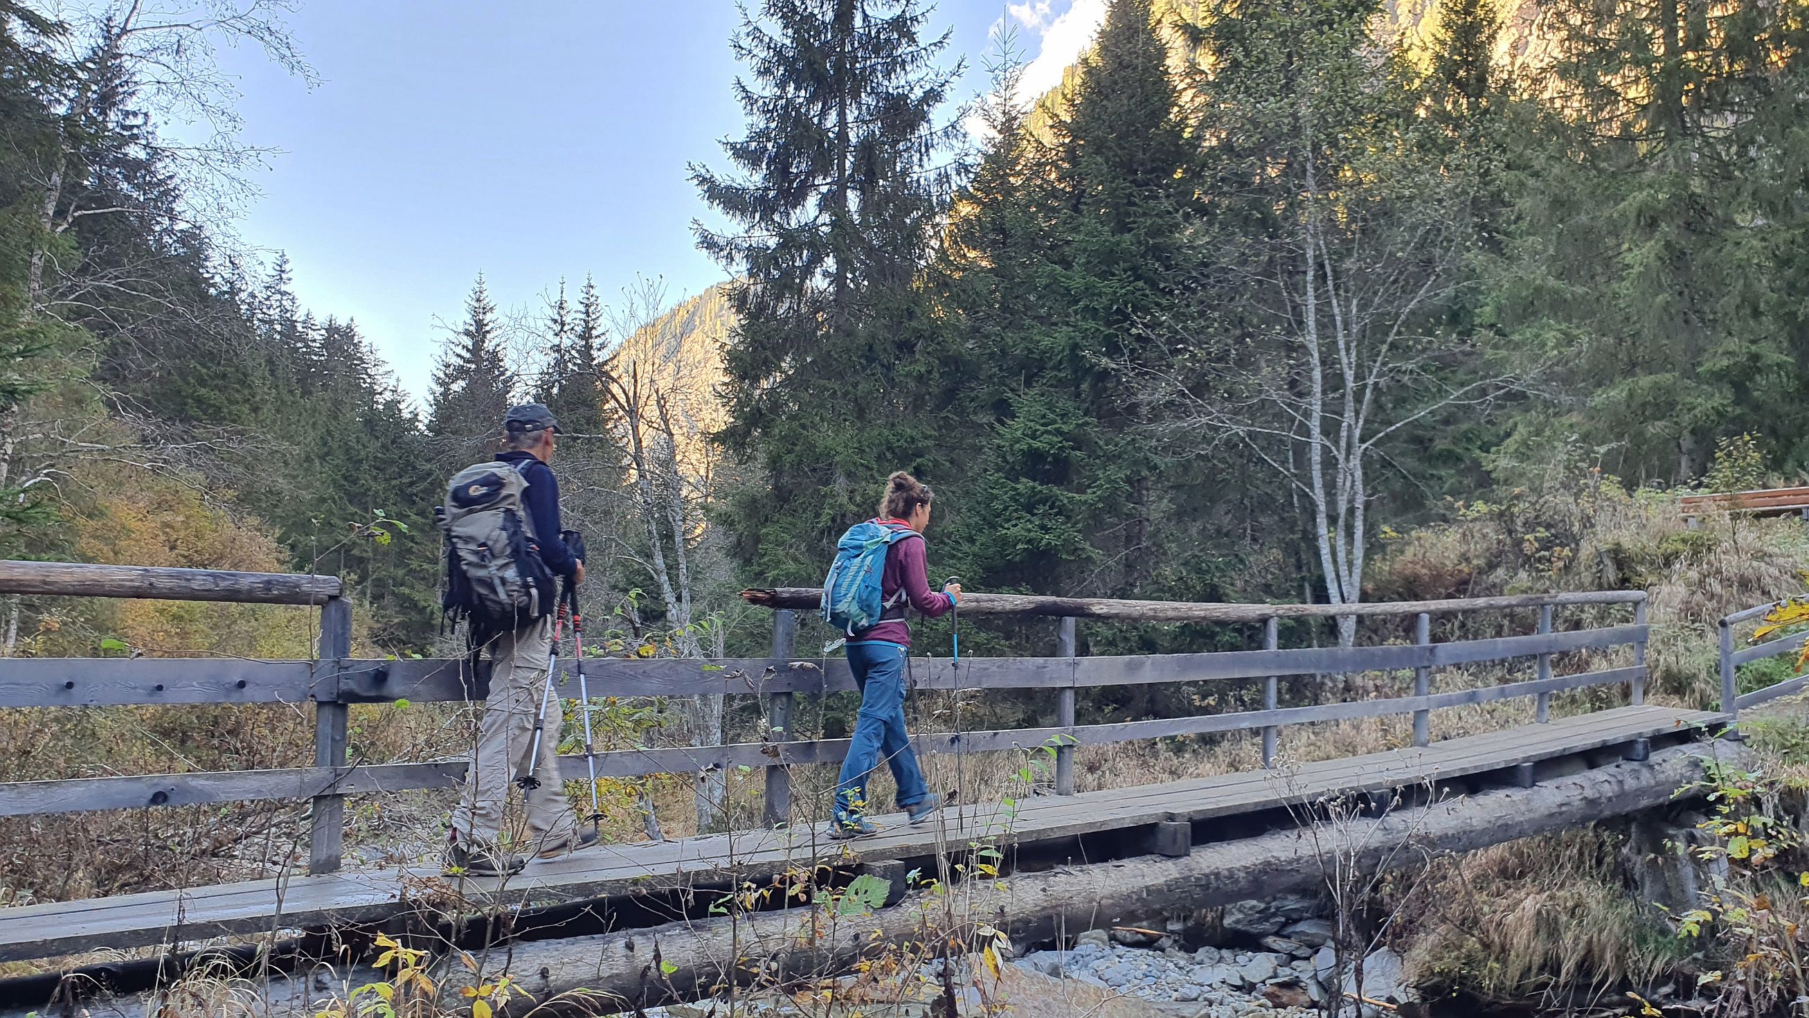
M447 879L432 866L342 866L347 797L407 788L452 788L465 759L369 763L349 759L347 714L355 703L481 700L485 674L459 660L355 658L351 606L333 577L212 573L42 562L0 562L0 593L186 599L291 604L318 609L318 653L311 660L174 658L14 658L0 662L0 707L107 707L194 703L313 705L315 758L309 767L250 772L81 778L0 785L0 815L80 810L141 810L244 799L306 799L311 839L306 872L262 881L172 888L92 900L0 908L0 960L51 958L98 947L186 951L215 938L264 938L349 924L391 924L434 910L438 915L508 911L508 935L561 937L570 931L649 928L675 917L702 917L702 890L783 881L800 866L903 873L950 852L984 844L1009 855L999 868L1022 872L1114 857L1207 853L1237 839L1288 830L1297 810L1326 796L1388 794L1427 803L1445 794L1527 788L1590 768L1628 767L1653 752L1729 729L1731 712L1700 712L1644 702L1648 626L1643 591L1523 595L1364 606L1098 602L971 595L962 615L1049 617L1056 655L1047 658L915 658L919 689L1047 691L1055 723L1037 729L917 736L919 752L1028 750L1051 759L1053 792L1020 799L1011 810L964 805L937 825L910 828L885 817L874 839L830 843L821 803L794 803L796 767L836 763L845 740L792 740L798 696L854 689L847 665L794 653L796 608L816 591L753 591L776 609L772 653L734 660L586 662L592 696L758 698L763 741L722 747L658 747L597 754L599 776L696 774L762 768L767 826L682 841L606 844L541 861L510 879ZM1380 620L1393 640L1351 647L1283 647L1284 620L1353 615ZM1494 617L1514 635L1435 642L1433 620ZM1076 656L1076 618L1198 622L1241 627L1259 647L1216 653ZM1532 622L1536 618L1536 624ZM1411 620L1411 642L1407 622ZM1089 622L1093 624L1093 622ZM1304 624L1295 624L1304 626ZM1440 689L1442 669L1478 665L1511 678ZM575 698L570 664L561 660L561 693ZM1731 667L1731 665L1729 665ZM1525 678L1509 674L1518 669ZM1322 700L1355 683L1302 676L1395 673L1413 693ZM1447 673L1449 674L1449 673ZM1729 673L1731 674L1731 673ZM1292 678L1290 678L1292 676ZM1243 689L1250 709L1116 723L1076 723L1076 691L1107 685L1210 683ZM1239 685L1241 683L1241 685ZM1729 680L1731 683L1731 680ZM1288 705L1283 705L1283 691ZM1377 683L1378 687L1378 683ZM1556 696L1565 716L1554 716ZM1532 702L1530 721L1433 741L1438 711L1503 700ZM1724 703L1733 703L1731 693ZM1366 756L1293 763L1283 729L1302 723L1409 716L1411 745ZM1525 718L1527 714L1521 714ZM1185 781L1078 792L1075 758L1089 747L1132 740L1259 732L1263 768ZM1406 738L1404 738L1406 741ZM469 750L465 750L469 752ZM582 756L561 758L566 779L582 779ZM1619 803L1621 799L1617 799ZM1632 803L1630 799L1626 803ZM1621 806L1614 806L1621 808ZM1630 806L1626 806L1630 808ZM1509 835L1503 832L1503 837ZM903 882L899 882L903 886ZM783 897L781 897L783 900ZM450 902L450 904L449 904ZM633 940L628 949L633 951Z

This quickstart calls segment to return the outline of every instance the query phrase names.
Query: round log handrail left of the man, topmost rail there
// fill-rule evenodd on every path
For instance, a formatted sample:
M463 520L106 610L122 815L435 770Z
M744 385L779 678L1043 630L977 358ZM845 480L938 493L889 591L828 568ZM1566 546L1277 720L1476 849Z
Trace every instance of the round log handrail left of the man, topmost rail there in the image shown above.
M338 577L0 561L0 593L326 604L340 591Z

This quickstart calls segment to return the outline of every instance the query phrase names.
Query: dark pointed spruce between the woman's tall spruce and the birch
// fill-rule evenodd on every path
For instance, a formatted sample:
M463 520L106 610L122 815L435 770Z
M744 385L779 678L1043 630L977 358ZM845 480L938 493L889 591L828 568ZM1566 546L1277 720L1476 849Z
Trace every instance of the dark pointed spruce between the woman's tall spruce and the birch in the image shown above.
M984 385L971 506L953 537L990 588L1127 593L1158 557L1167 481L1123 385L1181 311L1196 146L1147 0L1116 0L1047 143L1004 123L950 231L952 300Z

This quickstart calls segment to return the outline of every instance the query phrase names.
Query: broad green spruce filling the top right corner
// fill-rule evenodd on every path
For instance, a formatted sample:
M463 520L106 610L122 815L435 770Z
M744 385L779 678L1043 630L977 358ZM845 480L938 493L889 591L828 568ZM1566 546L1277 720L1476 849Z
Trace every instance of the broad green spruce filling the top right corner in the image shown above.
M1552 0L1549 24L1554 103L1494 297L1561 394L1523 439L1581 434L1672 483L1740 432L1802 463L1802 7Z

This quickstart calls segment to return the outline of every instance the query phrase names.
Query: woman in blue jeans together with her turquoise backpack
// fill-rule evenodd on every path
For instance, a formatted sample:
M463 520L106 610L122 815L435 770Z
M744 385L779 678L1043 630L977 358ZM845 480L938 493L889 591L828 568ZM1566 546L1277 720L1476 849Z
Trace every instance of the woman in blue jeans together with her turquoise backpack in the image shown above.
M930 589L923 532L930 526L926 485L899 470L886 477L879 517L854 524L836 548L836 564L823 586L823 618L848 633L848 669L861 687L848 756L836 781L836 814L829 835L870 837L879 828L867 819L867 779L885 761L897 783L897 803L912 825L928 821L942 797L930 790L917 767L917 750L904 731L904 664L910 626L904 606L935 618L961 600L961 584ZM883 561L883 564L881 564ZM872 579L877 573L877 584ZM861 589L861 586L868 589Z

